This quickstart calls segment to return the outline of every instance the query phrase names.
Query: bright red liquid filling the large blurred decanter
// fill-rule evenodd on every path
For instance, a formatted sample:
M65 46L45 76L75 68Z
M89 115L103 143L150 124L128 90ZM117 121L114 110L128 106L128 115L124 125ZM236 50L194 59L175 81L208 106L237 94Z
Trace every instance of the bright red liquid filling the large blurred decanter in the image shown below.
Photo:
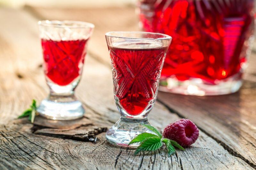
M216 84L241 73L254 26L253 0L142 0L140 11L145 31L172 36L163 78Z

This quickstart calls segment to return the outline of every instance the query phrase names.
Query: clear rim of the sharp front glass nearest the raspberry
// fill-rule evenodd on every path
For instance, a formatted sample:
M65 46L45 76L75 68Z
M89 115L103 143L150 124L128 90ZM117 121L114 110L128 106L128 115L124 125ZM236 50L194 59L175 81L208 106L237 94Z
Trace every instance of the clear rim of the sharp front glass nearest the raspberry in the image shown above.
M129 37L129 36L111 35L112 33L140 33L140 34L146 33L146 34L162 35L164 37L162 37L162 38L136 38L136 37ZM123 38L123 39L155 39L155 40L172 39L172 37L167 34L162 34L162 33L157 33L157 32L143 32L143 31L112 31L112 32L107 32L105 34L105 36L115 37L115 38Z

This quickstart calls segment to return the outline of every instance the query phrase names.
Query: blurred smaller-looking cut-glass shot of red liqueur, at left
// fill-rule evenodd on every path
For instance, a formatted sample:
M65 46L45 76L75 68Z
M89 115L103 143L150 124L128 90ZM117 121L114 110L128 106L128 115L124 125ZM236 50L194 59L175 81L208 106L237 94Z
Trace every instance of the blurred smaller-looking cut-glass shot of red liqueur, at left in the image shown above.
M37 111L54 120L82 117L84 108L74 96L80 81L93 24L80 21L39 21L44 73L50 95Z

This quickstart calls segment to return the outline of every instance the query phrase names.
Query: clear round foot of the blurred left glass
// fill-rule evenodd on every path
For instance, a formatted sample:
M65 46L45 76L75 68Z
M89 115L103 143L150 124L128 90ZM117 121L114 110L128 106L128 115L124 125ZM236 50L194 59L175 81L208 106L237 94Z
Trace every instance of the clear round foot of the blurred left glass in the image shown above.
M41 102L37 112L48 119L73 120L83 117L85 111L82 103L74 96L50 96Z

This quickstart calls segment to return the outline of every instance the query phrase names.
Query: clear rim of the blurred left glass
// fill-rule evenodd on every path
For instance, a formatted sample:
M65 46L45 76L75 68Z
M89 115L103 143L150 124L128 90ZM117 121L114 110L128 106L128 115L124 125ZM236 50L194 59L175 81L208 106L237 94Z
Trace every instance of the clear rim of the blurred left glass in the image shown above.
M61 24L77 24L77 25L60 25ZM73 20L41 20L38 21L39 26L55 27L55 28L94 28L94 24L84 21Z

